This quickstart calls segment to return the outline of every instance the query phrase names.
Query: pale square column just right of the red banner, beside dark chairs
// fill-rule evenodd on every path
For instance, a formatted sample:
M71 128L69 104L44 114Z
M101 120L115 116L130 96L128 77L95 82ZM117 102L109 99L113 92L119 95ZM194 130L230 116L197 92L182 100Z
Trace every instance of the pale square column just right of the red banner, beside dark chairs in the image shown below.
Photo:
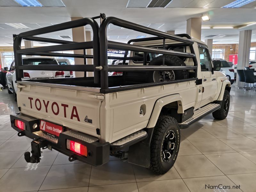
M244 67L249 67L251 38L252 38L252 30L244 30L239 32L237 69L244 69ZM236 73L236 85L241 87L243 86L239 82L237 73Z

